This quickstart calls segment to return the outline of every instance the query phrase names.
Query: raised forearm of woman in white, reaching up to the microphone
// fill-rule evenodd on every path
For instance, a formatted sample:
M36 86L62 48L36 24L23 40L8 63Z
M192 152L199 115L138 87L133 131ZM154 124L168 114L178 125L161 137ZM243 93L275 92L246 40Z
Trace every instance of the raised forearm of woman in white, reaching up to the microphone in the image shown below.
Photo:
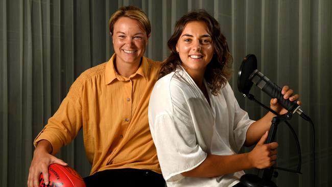
M266 132L270 130L271 121L274 118L275 114L272 112L268 112L264 115L263 118L258 121L252 123L247 130L245 146L252 146L257 143L260 137Z

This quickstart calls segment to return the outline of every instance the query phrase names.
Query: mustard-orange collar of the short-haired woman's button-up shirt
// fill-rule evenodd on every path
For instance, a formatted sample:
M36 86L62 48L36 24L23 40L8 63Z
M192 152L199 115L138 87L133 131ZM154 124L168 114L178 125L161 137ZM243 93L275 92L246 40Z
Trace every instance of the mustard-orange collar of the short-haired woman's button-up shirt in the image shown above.
M115 67L114 67L114 63L113 63L115 58L116 58L116 54L113 54L112 57L106 63L106 69L105 69L105 83L106 84L112 83L115 79L117 79L118 81L127 81L127 80L134 78L136 75L140 75L141 77L144 77L145 80L147 79L149 63L148 63L148 59L146 57L142 57L141 63L139 65L137 71L133 75L131 75L129 78L123 77L115 71Z

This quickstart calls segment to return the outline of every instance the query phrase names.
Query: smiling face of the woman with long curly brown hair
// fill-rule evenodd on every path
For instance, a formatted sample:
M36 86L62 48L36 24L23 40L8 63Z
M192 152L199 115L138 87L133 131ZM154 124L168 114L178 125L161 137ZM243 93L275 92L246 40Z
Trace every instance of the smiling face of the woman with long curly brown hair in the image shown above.
M204 76L206 66L214 54L205 22L188 22L177 41L176 51L189 75Z

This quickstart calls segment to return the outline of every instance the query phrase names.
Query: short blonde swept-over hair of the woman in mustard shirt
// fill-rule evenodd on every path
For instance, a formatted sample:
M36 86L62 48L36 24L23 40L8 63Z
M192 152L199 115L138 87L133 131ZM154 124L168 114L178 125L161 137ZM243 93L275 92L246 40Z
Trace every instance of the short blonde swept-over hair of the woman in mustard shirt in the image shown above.
M134 6L123 6L118 9L108 21L109 32L113 35L113 29L115 22L121 17L129 17L131 19L135 19L139 22L141 29L143 29L147 36L151 33L151 24L148 16L143 12L142 9L134 7Z

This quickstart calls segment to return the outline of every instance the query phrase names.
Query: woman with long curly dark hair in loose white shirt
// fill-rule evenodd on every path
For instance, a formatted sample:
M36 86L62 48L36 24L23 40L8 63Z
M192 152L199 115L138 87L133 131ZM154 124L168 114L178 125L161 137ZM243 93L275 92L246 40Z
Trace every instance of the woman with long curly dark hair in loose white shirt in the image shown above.
M181 17L168 41L149 102L149 124L168 186L242 186L243 170L267 168L277 143L264 144L274 114L252 121L227 82L232 57L218 21L206 11ZM298 95L288 86L284 99ZM271 100L278 113L287 110ZM298 101L298 104L300 102ZM257 143L249 153L240 148Z

